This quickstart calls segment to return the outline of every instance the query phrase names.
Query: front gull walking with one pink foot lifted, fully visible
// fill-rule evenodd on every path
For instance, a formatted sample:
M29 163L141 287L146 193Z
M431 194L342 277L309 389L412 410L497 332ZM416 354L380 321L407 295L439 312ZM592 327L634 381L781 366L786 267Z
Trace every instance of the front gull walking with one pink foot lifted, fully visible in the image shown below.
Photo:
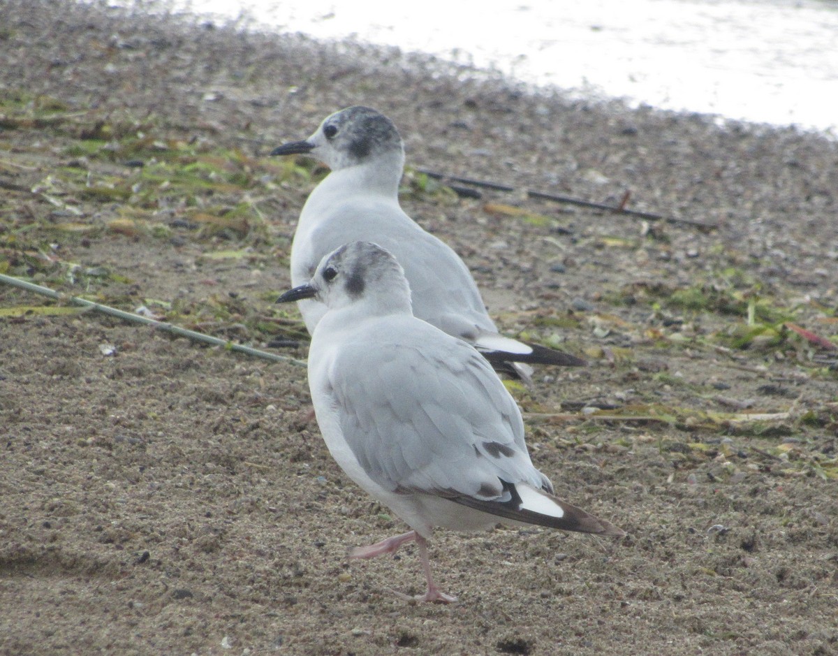
M433 528L504 522L624 535L553 496L530 460L515 399L473 346L413 315L391 253L370 242L339 247L277 302L301 299L326 308L308 353L323 440L347 475L411 528L350 557L392 554L416 541L427 580L416 599L448 602L456 597L431 575Z

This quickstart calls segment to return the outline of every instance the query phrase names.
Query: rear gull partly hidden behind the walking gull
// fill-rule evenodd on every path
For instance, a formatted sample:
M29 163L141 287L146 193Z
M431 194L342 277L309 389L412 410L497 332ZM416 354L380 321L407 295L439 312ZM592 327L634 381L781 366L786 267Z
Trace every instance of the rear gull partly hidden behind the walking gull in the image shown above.
M499 369L530 379L524 364L582 367L579 357L499 334L477 284L453 249L422 230L399 205L404 144L391 120L370 107L348 107L327 117L305 141L272 155L309 154L331 172L308 196L291 247L291 282L308 281L324 255L357 240L396 256L413 294L413 313L468 341ZM299 303L308 332L326 312L316 300Z

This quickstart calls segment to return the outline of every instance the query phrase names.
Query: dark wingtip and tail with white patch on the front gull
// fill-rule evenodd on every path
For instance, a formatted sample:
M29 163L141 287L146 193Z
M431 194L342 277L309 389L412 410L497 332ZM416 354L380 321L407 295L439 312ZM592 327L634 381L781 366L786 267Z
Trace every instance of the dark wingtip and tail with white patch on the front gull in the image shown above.
M509 483L501 481L504 492L494 499L478 497L452 497L453 502L482 510L484 513L511 519L518 523L538 524L550 528L561 528L577 533L592 533L613 537L623 537L625 531L613 523L594 517L582 508L561 501L547 492L543 492L528 483Z

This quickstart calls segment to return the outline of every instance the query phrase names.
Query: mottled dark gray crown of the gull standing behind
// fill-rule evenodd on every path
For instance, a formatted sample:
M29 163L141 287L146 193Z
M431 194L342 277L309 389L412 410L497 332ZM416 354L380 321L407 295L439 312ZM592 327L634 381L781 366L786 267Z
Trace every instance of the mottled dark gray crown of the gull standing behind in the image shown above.
M393 122L371 107L347 107L323 121L321 129L334 148L358 160L402 148Z

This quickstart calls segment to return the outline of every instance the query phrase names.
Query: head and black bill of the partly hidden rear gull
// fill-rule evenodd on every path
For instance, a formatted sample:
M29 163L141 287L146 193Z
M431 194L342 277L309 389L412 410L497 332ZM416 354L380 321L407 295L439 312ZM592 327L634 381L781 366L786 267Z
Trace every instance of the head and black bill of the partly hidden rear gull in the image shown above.
M285 143L274 148L271 154L310 154L336 171L393 158L403 164L404 144L389 118L375 109L358 105L326 117L305 141Z

